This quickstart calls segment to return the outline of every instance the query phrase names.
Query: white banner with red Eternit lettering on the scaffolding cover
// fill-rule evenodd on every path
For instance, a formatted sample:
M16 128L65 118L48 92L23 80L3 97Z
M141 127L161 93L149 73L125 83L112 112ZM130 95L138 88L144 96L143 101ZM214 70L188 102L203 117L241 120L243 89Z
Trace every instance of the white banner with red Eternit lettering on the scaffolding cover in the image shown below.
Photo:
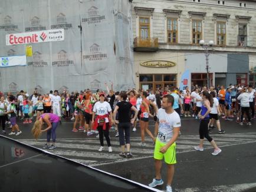
M6 35L6 45L34 44L37 42L63 41L64 29L24 32Z

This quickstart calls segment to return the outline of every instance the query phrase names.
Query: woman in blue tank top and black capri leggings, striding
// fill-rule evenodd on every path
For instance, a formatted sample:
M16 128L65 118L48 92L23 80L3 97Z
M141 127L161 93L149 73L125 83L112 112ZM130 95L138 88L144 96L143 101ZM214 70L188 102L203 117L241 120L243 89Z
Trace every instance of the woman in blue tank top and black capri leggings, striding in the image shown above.
M209 136L209 132L208 132L209 113L211 112L211 108L214 104L214 99L212 98L212 95L209 94L208 91L202 92L202 98L203 98L203 105L198 115L200 119L200 125L199 125L200 144L199 146L196 146L194 148L195 150L198 150L198 151L204 151L204 147L203 147L204 138L206 138L212 144L212 147L214 147L214 152L212 153L212 155L218 155L219 153L221 153L221 149L218 148L215 141Z

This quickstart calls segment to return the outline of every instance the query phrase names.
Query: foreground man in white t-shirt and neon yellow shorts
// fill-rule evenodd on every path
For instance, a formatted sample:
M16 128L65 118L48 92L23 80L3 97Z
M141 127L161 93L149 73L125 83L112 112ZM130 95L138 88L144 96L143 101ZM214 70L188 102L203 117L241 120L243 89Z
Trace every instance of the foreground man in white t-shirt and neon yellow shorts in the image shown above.
M163 184L160 175L162 168L161 160L165 158L165 163L168 167L166 191L172 191L172 179L174 175L174 164L176 164L176 143L179 137L180 117L173 110L172 106L174 98L172 95L163 96L162 108L157 112L157 123L155 126L156 145L154 151L156 176L150 187L156 187Z

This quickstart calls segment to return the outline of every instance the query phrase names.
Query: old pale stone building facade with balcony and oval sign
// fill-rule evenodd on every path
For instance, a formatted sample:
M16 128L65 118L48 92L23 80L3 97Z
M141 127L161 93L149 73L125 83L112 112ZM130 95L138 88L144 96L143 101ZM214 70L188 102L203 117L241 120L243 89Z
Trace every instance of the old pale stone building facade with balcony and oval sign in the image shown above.
M179 87L188 69L188 85L207 84L209 47L211 85L252 84L256 66L256 1L132 1L136 87Z

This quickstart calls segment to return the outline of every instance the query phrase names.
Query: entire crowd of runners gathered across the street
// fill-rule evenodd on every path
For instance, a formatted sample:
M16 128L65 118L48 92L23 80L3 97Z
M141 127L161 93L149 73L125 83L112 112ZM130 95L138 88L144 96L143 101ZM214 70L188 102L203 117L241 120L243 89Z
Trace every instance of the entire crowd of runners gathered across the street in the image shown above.
M70 131L77 133L82 131L87 136L97 135L100 140L99 151L104 150L104 138L107 141L108 151L111 153L111 141L109 130L116 130L116 137L120 141L120 156L133 157L130 151L130 128L137 131L139 123L141 142L145 147L145 132L152 138L155 144L156 177L150 187L163 184L160 177L160 163L165 158L168 164L168 185L166 191L172 191L170 184L174 174L175 141L180 133L180 116L183 118L195 118L200 120L199 145L195 150L204 150L204 138L214 147L212 155L221 153L221 149L209 136L218 128L219 134L224 134L219 118L227 121L236 120L240 125L251 125L255 119L255 89L251 86L229 85L229 87L198 88L196 85L189 90L180 91L179 88L166 87L164 90L127 90L114 91L107 84L106 91L97 90L95 93L87 89L84 91L63 92L50 91L48 94L38 94L37 90L28 95L20 91L18 95L1 95L0 121L2 133L6 134L6 124L12 128L9 135L19 135L21 131L16 119L20 118L23 124L31 124L34 121L32 133L38 138L41 133L47 131L47 143L43 148L54 149L55 130L61 120L74 121ZM149 118L155 121L155 131L149 130ZM43 124L47 128L42 129ZM50 139L52 142L50 144Z

